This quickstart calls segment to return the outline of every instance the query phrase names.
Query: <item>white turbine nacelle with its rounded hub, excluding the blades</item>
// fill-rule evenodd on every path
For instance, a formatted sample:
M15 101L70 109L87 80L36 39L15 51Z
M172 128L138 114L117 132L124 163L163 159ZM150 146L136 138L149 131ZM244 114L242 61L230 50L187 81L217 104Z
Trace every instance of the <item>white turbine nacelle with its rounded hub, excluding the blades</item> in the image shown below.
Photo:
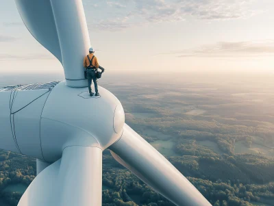
M112 93L100 87L102 96L90 98L86 88L55 84L0 92L2 149L55 162L68 146L103 151L119 140L125 114Z

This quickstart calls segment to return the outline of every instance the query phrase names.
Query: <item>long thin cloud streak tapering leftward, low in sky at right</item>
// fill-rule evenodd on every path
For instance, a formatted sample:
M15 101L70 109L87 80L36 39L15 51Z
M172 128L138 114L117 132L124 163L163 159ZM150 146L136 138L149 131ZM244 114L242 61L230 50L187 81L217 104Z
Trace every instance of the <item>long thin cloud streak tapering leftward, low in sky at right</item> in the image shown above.
M216 42L194 49L162 54L173 54L177 57L262 57L274 55L274 40Z

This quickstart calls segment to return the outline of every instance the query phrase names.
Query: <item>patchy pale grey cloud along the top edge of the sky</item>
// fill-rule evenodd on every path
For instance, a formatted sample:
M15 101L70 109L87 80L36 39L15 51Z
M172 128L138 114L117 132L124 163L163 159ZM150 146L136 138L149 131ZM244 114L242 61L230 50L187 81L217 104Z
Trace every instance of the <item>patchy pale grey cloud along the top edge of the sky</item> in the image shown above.
M101 21L107 27L97 29L116 31L144 23L176 22L188 19L224 21L249 18L259 11L251 9L258 0L116 0L101 1L101 8L109 8ZM94 1L84 1L92 7ZM110 15L110 16L109 16ZM119 17L119 18L118 18ZM121 19L126 18L125 22ZM112 28L113 25L113 28Z

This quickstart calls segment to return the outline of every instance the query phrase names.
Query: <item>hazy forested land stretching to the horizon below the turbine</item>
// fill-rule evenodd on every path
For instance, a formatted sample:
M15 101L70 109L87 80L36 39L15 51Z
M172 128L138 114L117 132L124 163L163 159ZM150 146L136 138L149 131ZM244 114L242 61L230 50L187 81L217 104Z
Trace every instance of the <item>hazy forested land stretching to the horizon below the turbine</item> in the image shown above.
M274 77L190 73L168 81L161 75L151 77L106 73L99 83L119 98L126 123L212 205L273 206ZM50 75L36 81L0 78L0 87L60 80ZM16 205L35 174L35 159L1 151L0 205ZM103 205L173 204L105 151Z

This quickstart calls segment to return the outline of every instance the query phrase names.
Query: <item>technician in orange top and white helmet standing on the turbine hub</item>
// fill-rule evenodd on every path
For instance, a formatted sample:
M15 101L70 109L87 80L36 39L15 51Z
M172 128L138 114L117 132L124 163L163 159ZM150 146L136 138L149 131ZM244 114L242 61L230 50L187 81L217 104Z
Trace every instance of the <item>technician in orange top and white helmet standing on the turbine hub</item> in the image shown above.
M97 57L95 57L94 53L94 49L92 47L90 47L89 49L89 55L87 55L86 57L84 57L84 67L86 68L86 73L87 73L87 77L88 77L88 90L90 92L90 96L93 96L93 92L92 92L92 88L91 88L91 84L92 84L92 80L95 84L95 96L100 96L99 92L98 92L98 83L97 83L97 69L99 68L99 63L97 61Z

